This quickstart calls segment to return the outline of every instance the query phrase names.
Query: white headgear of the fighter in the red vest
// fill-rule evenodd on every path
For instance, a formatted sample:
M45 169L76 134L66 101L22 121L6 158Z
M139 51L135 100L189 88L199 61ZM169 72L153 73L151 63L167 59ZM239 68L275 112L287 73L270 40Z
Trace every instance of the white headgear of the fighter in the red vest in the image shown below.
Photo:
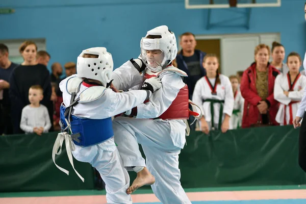
M177 45L176 45L176 38L173 32L169 32L168 27L166 25L161 25L155 29L152 29L147 32L147 35L160 35L161 38L149 39L149 38L142 38L140 42L141 48L141 58L146 63L147 67L152 71L161 71L167 65L169 65L172 60L175 59L177 54ZM160 66L152 67L147 63L146 58L146 50L154 50L160 49L164 54L164 59Z

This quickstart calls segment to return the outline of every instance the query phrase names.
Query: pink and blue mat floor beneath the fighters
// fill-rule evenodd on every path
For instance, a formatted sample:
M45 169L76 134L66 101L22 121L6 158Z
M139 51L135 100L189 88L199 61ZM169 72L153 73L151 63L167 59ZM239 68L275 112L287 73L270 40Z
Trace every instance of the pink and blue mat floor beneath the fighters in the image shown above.
M186 189L193 204L306 204L306 186ZM105 191L0 193L0 204L105 204ZM151 190L139 189L133 203L160 204ZM167 203L168 204L168 203ZM175 204L175 203L169 203Z

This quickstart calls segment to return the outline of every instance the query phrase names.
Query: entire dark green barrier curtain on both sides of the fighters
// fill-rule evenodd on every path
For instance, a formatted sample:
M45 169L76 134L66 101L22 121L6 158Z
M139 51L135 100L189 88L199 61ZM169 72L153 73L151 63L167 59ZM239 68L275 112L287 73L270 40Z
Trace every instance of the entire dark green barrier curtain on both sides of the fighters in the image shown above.
M292 126L239 129L209 136L192 132L180 154L184 188L299 185L306 174L298 166L298 129ZM0 191L94 189L93 168L74 160L75 174L64 148L57 164L52 148L57 134L0 137ZM65 145L64 145L65 146ZM130 172L131 182L135 172ZM144 187L144 188L149 188Z

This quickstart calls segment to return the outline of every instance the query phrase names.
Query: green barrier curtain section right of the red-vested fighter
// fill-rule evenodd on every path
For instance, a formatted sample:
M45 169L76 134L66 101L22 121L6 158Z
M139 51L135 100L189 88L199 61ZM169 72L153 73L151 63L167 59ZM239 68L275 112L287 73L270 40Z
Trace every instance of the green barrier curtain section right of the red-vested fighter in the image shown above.
M292 125L194 132L180 154L185 188L305 184Z

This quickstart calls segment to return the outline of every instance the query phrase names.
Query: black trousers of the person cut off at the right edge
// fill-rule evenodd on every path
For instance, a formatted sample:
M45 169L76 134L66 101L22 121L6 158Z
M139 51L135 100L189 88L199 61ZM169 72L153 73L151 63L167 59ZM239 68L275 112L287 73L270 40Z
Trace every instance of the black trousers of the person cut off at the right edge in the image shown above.
M298 164L306 172L306 112L300 127L298 139Z

